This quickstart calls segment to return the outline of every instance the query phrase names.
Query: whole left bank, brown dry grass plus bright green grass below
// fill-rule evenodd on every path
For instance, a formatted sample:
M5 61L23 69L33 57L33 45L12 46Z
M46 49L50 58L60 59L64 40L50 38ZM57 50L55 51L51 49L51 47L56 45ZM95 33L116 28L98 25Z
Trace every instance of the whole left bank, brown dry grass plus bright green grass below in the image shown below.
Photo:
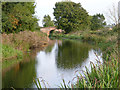
M7 68L22 60L24 52L43 48L47 45L47 36L39 31L23 31L19 33L2 34L2 67Z

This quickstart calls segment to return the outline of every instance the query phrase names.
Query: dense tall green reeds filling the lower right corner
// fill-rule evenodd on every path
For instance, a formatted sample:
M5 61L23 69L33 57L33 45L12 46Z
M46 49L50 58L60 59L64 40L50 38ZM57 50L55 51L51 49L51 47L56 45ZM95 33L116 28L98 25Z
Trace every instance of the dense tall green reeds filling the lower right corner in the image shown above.
M107 57L106 57L107 60ZM81 76L75 85L77 88L118 88L118 58L112 58L104 65L91 65L91 72L86 68L85 77Z

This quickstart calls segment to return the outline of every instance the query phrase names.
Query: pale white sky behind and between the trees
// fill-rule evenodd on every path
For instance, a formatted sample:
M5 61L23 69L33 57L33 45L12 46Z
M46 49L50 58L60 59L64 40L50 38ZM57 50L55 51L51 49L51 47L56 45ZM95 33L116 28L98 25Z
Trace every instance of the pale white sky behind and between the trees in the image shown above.
M51 19L54 19L53 8L55 7L56 2L60 2L63 0L35 0L36 8L35 15L39 19L39 26L42 25L42 20L44 15L50 15ZM120 0L71 0L75 3L81 3L82 7L87 10L89 15L94 15L97 13L101 13L105 16L107 24L112 24L107 14L109 9L112 10L112 6L115 5L116 8L118 6L118 2Z

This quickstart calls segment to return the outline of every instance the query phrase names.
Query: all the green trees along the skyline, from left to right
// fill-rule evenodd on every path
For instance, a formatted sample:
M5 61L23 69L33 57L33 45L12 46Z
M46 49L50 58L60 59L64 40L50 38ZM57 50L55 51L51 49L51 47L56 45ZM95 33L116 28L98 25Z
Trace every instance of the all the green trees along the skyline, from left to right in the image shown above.
M90 16L80 3L72 1L56 2L54 9L55 20L45 15L43 26L56 26L66 33L76 30L97 30L106 25L103 14ZM2 3L2 33L13 33L24 30L40 29L38 19L34 16L34 2L3 2Z

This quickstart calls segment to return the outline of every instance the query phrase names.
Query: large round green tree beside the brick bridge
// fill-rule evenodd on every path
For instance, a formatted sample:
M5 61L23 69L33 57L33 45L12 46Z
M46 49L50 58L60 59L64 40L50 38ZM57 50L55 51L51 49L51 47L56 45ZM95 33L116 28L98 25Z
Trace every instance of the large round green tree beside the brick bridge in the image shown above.
M63 29L66 33L72 30L81 30L89 26L87 11L80 3L71 1L57 2L54 8L55 24L57 28Z

